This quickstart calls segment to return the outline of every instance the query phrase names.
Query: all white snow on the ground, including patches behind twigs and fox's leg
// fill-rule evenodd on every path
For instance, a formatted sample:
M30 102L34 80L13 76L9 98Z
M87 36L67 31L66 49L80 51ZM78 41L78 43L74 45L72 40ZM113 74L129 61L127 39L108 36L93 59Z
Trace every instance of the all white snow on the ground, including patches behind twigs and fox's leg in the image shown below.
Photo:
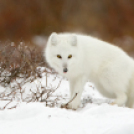
M49 74L47 82L50 89L58 87L51 99L62 96L66 99L61 102L68 100L67 80ZM37 90L39 83L46 86L45 74L42 79L25 84L25 94L30 89ZM134 109L108 102L89 82L82 95L83 105L76 111L58 108L59 105L46 107L43 102L20 102L15 109L0 111L0 134L134 134Z

